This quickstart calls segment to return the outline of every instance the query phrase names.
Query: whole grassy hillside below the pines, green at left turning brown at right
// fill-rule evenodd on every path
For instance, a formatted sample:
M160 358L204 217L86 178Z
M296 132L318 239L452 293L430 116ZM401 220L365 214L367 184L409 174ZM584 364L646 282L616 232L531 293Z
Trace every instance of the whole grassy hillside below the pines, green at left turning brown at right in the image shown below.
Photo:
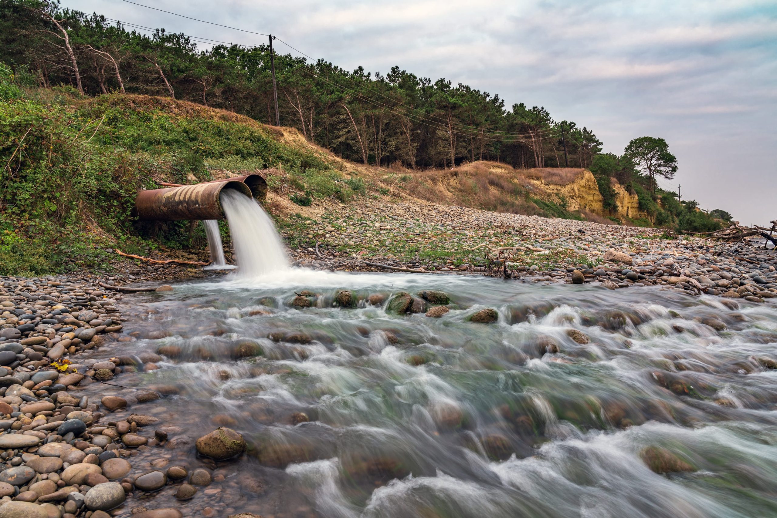
M570 210L563 193L550 189L577 182L582 169L357 165L297 130L195 103L25 89L2 64L0 162L0 275L99 268L115 258L116 248L202 252L201 225L134 222L135 193L158 182L196 183L246 170L266 176L267 206L282 228L293 226L296 214L321 217L367 196L597 221L595 214Z

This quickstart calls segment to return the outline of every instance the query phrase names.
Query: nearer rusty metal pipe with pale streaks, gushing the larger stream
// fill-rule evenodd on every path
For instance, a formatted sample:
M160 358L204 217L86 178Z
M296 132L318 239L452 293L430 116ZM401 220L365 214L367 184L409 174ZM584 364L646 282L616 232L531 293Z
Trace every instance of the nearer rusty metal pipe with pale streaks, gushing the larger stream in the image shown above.
M221 220L224 219L224 210L218 196L224 189L235 189L246 196L253 196L246 183L232 179L142 190L135 197L134 214L141 220Z

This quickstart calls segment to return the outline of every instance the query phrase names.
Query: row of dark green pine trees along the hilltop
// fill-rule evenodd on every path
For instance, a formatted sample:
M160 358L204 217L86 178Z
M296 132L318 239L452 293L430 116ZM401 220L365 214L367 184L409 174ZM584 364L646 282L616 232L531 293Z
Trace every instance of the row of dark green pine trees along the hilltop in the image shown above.
M199 50L183 33L86 15L58 2L0 0L0 61L19 82L66 85L83 96L170 96L274 124L269 46L204 43L208 48ZM622 156L603 154L585 126L554 120L542 106L507 109L497 94L443 78L433 82L399 67L385 75L346 71L291 54L276 54L275 70L280 124L351 161L409 169L476 160L519 169L587 168L598 177L605 206L614 177L643 193L640 207L657 223L678 224L685 212L699 212L688 203L678 203L681 210L657 204L659 196L662 206L670 197L676 201L657 189L657 177L671 179L677 171L663 139L640 137ZM715 220L701 217L709 224L686 230L709 230Z

